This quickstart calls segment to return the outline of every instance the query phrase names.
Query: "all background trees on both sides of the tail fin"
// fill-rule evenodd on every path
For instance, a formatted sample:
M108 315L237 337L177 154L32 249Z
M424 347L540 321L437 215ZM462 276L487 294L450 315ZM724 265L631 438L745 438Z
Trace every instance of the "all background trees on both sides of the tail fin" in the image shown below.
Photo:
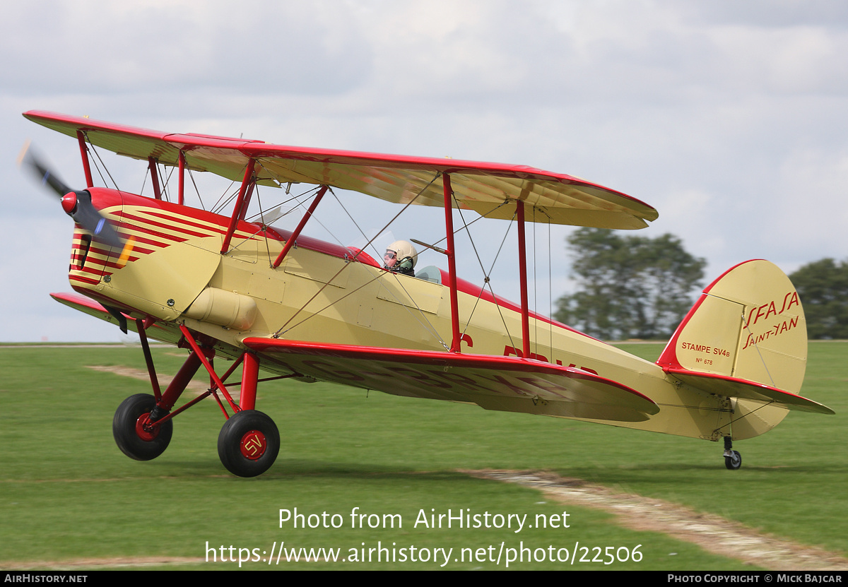
M666 339L704 287L706 260L671 234L622 236L580 228L566 239L577 287L555 319L602 340ZM789 275L809 338L848 338L848 260L817 260Z

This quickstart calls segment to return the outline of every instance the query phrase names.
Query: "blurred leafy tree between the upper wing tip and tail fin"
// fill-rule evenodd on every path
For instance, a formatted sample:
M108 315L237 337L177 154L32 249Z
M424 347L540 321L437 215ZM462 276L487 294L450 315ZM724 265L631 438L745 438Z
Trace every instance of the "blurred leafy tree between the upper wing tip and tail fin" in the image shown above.
M622 237L580 228L567 243L577 291L557 301L555 318L596 338L671 336L704 277L706 260L671 234Z

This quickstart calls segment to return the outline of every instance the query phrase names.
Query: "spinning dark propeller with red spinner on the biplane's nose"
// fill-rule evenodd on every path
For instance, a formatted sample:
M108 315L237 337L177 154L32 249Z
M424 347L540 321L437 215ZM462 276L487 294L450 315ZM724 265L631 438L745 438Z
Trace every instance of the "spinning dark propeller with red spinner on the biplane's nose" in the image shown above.
M29 143L24 147L20 154L20 165L31 170L42 182L42 186L46 185L56 193L62 201L62 210L64 210L74 221L82 226L88 232L91 232L92 237L98 239L103 244L117 249L125 249L124 242L114 229L111 222L106 220L103 215L98 212L98 209L92 204L92 194L86 190L74 191L59 179L52 171L47 169L41 159L39 159ZM131 249L131 242L127 243L127 249ZM121 258L124 259L128 254L124 250Z

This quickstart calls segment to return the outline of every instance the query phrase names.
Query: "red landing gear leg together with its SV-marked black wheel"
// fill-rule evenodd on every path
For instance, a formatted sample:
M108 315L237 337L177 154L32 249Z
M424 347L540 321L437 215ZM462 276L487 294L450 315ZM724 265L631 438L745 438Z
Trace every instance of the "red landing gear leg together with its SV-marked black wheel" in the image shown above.
M220 429L218 456L227 471L239 477L256 477L267 471L280 452L280 432L269 416L254 410L259 382L259 359L242 355L240 409Z

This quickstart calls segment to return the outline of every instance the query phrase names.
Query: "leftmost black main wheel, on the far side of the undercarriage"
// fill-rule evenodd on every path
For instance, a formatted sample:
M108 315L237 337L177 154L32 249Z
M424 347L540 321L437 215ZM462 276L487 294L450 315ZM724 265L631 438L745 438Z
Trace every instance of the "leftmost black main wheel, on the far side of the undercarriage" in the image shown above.
M174 433L174 422L148 424L156 398L148 394L131 395L114 412L112 434L118 448L136 461L150 461L165 452Z

